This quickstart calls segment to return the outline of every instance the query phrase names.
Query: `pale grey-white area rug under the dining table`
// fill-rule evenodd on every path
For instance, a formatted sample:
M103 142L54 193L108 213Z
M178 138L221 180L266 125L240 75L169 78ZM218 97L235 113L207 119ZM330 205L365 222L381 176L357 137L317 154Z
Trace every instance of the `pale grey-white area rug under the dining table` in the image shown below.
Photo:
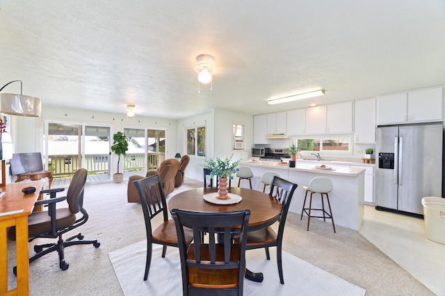
M182 295L179 251L167 247L161 258L161 245L154 245L152 265L147 281L145 272L146 241L140 241L108 253L120 286L125 295ZM365 290L335 275L316 268L296 256L283 252L284 285L280 284L275 247L270 250L270 261L264 250L246 252L248 268L263 272L264 281L245 279L244 295L364 295Z

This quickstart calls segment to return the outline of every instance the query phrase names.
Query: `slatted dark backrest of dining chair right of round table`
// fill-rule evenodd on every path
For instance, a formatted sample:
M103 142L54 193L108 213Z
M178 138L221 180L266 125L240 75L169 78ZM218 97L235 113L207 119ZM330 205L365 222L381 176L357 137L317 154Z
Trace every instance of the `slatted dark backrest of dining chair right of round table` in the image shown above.
M297 186L297 184L277 176L273 177L272 184L270 184L269 195L279 200L282 205L280 217L278 218L280 225L278 226L277 241L282 240L287 212L289 211L289 205L291 204L293 193L297 189Z

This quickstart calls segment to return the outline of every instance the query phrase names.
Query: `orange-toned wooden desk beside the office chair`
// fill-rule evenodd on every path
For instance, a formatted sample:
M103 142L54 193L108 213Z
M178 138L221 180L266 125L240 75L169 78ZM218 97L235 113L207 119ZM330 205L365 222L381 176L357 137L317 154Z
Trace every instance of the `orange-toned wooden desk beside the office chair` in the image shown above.
M6 193L0 198L0 295L29 295L28 216L43 188L43 181L1 186ZM34 186L35 193L24 194L22 189ZM8 239L6 229L15 226L17 256L17 288L8 291Z

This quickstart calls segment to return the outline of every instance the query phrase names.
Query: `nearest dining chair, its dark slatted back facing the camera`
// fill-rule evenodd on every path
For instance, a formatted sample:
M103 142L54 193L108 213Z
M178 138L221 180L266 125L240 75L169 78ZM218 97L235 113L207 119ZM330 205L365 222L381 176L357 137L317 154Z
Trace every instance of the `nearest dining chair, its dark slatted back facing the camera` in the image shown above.
M183 295L243 295L250 210L194 212L172 209L181 256ZM193 229L187 245L185 229ZM209 242L200 241L202 232ZM232 241L238 235L238 243ZM220 238L220 239L217 239Z

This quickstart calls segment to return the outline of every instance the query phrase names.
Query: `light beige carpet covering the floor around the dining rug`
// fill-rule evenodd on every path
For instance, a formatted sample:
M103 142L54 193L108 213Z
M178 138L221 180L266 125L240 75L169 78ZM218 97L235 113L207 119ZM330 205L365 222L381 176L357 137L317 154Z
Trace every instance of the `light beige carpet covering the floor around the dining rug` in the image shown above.
M199 186L202 186L201 181L188 178L170 196ZM127 202L126 184L106 183L86 186L84 207L90 219L72 234L82 232L86 239L97 238L100 247L68 247L65 259L70 268L65 271L58 268L56 252L31 263L31 296L124 295L108 253L145 239L140 204ZM154 225L159 225L161 220L155 219ZM358 232L336 227L337 234L334 234L330 223L316 219L311 220L311 229L307 232L306 223L306 218L301 221L300 215L289 213L284 231L284 251L364 288L366 296L434 295ZM29 254L33 254L33 245L48 241L51 240L31 242ZM8 241L8 286L16 284L14 265L15 242Z

